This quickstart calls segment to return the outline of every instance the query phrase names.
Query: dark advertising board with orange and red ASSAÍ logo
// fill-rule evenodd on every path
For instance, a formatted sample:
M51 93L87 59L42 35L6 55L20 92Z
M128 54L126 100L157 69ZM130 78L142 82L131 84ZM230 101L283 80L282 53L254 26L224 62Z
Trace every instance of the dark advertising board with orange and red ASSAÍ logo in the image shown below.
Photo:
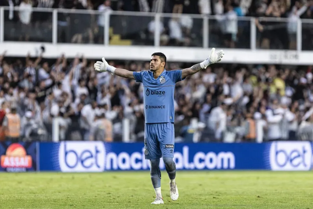
M26 172L37 170L37 143L0 143L0 171Z

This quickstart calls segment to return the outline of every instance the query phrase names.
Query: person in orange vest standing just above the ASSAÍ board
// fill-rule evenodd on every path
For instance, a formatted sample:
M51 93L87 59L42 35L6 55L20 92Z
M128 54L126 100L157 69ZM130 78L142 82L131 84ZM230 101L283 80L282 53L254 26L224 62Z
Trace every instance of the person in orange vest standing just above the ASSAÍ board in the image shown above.
M11 112L6 114L2 124L5 140L18 142L21 131L21 119L17 113L16 106L11 106Z

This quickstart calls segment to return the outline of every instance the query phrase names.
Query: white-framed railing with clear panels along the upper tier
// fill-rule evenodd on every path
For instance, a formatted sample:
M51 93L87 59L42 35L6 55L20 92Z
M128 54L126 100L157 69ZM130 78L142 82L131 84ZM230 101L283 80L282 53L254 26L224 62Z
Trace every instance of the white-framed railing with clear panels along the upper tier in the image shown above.
M21 22L19 15L23 15ZM313 20L94 10L0 8L0 43L312 50ZM304 43L302 43L304 42Z

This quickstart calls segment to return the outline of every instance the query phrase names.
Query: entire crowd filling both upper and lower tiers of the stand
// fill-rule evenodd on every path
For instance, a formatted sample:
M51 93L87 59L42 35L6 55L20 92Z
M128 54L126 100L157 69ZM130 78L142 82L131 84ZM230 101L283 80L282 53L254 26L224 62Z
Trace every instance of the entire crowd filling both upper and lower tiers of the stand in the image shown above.
M52 42L53 13L44 8L85 10L58 13L58 43L103 44L105 14L110 17L111 45L153 45L155 24L161 25L161 46L203 46L203 19L209 19L210 47L248 49L250 20L257 17L256 47L296 49L298 18L312 19L313 1L199 0L199 1L31 1L5 0L4 41ZM14 6L21 10L14 11ZM31 7L42 11L28 10ZM22 9L23 8L23 9ZM124 11L124 12L123 12ZM127 11L166 13L156 23ZM100 14L99 14L100 12ZM178 18L172 13L188 16ZM125 14L125 15L122 15ZM150 13L148 13L150 14ZM267 21L262 17L273 17ZM277 22L286 17L288 21ZM234 21L236 20L236 21ZM223 22L223 24L222 24ZM302 50L312 50L312 24L302 24ZM67 59L0 58L0 102L3 118L12 106L21 117L20 140L52 140L53 119L59 120L60 140L122 141L123 120L129 122L130 141L144 140L142 86L110 74L96 73L95 61L83 56ZM148 70L149 63L113 60L110 65L130 71ZM167 70L194 63L167 63ZM177 83L176 141L263 142L305 140L312 137L312 66L218 64ZM105 118L106 127L93 125ZM5 140L5 133L1 133Z

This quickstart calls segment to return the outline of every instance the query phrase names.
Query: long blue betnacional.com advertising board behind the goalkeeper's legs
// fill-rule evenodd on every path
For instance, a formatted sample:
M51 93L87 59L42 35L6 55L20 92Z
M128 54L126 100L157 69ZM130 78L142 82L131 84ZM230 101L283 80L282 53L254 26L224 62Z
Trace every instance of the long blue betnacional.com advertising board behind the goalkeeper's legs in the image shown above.
M102 172L149 170L141 143L40 143L40 170ZM177 170L310 170L310 142L175 144ZM161 160L160 168L165 169Z

